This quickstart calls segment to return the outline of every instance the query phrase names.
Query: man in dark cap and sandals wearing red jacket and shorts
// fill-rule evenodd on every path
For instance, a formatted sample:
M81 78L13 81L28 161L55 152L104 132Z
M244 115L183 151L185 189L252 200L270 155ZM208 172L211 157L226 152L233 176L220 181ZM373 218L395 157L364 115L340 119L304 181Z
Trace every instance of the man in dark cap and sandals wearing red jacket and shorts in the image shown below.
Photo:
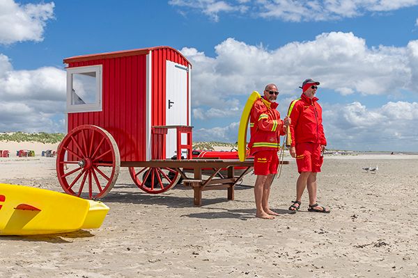
M323 164L323 151L327 145L325 139L322 108L315 97L319 82L306 79L302 83L302 95L289 106L288 115L291 117L291 149L290 153L296 158L299 177L296 181L296 200L289 207L291 211L298 211L305 188L309 193L308 211L330 213L328 208L316 202L316 173L320 172Z

